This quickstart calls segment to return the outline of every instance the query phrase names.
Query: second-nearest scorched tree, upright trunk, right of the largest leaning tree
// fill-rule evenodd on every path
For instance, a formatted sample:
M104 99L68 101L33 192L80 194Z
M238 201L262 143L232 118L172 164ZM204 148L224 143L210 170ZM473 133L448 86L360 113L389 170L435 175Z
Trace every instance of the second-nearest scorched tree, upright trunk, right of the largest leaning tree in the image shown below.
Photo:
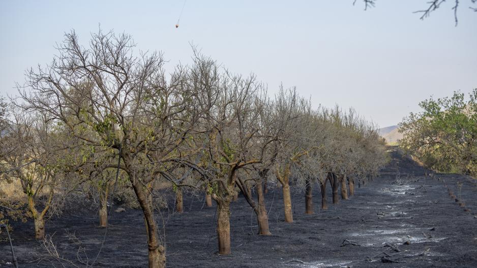
M208 107L201 129L201 177L207 192L217 203L217 236L220 254L230 254L230 202L238 188L244 189L240 170L262 161L263 152L254 150L260 136L258 124L263 109L264 87L254 76L244 78L220 73L210 59L197 65L193 81L208 92L202 105ZM265 142L266 143L266 142ZM238 186L238 188L237 188Z

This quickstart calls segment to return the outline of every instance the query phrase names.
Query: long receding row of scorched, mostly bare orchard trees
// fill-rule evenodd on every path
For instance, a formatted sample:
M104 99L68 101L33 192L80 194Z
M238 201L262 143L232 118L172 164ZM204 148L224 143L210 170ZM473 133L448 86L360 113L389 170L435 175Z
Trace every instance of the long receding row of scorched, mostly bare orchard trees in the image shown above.
M282 186L292 222L290 186L306 189L313 213L313 184L326 209L327 182L336 203L340 187L346 199L355 179L385 162L383 140L353 110L312 109L294 88L270 98L254 75L232 74L195 50L193 64L166 75L161 53L135 56L134 47L126 34L99 31L87 48L67 34L51 64L27 71L21 96L2 114L2 178L21 182L38 239L53 200L85 184L95 186L106 226L109 191L122 177L144 215L150 267L166 261L154 213L164 182L178 212L184 191L215 200L219 253L229 254L230 203L239 192L259 234L270 235L270 182Z

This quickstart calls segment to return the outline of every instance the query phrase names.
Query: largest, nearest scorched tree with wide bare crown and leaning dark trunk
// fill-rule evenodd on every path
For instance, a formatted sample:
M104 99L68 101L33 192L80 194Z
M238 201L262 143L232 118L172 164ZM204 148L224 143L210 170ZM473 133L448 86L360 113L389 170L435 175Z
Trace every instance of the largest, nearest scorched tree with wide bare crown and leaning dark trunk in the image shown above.
M199 87L185 83L177 66L167 79L162 54L134 55L131 36L101 30L83 47L65 35L46 68L29 70L25 108L61 122L91 153L110 150L120 158L144 214L149 267L164 267L165 247L154 217L153 182L172 180L171 168L191 153L184 142L199 114ZM105 166L115 167L116 164Z

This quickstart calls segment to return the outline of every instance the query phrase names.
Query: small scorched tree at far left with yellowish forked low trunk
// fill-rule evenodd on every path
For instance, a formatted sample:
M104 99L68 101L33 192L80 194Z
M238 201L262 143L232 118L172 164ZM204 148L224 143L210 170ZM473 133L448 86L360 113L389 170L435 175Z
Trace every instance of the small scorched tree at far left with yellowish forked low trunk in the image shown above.
M35 221L35 237L43 239L45 215L63 177L63 163L67 161L58 150L59 141L64 144L66 140L41 114L17 112L14 117L6 138L12 150L2 158L8 166L3 176L20 182L28 211ZM40 202L43 197L46 199Z

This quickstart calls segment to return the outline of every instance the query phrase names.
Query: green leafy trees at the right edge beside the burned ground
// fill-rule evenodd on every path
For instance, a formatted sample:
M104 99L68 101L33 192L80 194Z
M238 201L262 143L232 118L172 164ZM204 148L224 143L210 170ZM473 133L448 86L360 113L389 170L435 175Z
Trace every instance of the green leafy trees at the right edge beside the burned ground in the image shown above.
M425 100L400 124L401 146L428 168L477 175L477 89Z

